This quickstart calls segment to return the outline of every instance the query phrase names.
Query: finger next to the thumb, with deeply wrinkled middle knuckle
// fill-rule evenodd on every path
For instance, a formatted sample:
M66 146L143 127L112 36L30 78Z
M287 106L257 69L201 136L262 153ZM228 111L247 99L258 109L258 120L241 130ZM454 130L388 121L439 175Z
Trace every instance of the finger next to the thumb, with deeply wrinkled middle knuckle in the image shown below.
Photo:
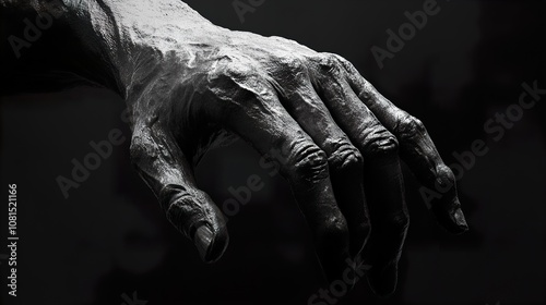
M327 154L289 115L269 83L246 80L233 99L226 127L260 154L277 156L274 161L311 229L327 279L340 278L349 257L349 232L334 197Z

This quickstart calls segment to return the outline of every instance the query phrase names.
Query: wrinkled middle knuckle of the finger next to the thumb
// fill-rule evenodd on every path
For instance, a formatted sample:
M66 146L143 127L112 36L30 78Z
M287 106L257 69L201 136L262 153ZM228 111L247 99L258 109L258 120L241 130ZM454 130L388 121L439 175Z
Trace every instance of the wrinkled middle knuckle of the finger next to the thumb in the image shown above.
M328 158L314 144L304 144L293 156L294 173L309 182L323 180L328 176Z

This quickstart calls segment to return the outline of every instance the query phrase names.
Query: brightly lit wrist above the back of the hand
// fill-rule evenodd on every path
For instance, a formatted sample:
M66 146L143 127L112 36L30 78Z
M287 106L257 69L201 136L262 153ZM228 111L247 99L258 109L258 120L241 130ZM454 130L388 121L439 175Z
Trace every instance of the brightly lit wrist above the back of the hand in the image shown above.
M192 51L189 45L222 32L179 0L64 2L72 27L111 70L123 98L157 72L173 51Z

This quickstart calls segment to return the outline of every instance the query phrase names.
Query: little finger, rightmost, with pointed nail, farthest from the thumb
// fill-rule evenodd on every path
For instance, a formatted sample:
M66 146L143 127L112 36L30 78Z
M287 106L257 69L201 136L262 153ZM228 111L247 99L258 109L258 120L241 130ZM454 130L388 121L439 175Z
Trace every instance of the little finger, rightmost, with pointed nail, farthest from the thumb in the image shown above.
M351 63L342 62L348 72L348 82L360 100L397 137L401 158L420 183L431 194L434 192L429 208L438 222L455 234L467 231L456 194L455 176L441 159L423 122L383 97Z

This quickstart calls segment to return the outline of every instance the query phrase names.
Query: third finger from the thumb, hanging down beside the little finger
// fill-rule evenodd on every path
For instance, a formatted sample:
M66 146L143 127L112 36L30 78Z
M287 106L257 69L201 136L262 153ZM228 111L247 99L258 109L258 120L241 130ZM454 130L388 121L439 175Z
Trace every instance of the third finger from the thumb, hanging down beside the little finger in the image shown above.
M372 290L388 295L395 290L397 263L407 233L410 216L404 198L399 143L376 119L342 77L335 58L318 61L317 87L337 124L364 157L364 186L371 222L370 241L363 252L371 266L368 280Z

